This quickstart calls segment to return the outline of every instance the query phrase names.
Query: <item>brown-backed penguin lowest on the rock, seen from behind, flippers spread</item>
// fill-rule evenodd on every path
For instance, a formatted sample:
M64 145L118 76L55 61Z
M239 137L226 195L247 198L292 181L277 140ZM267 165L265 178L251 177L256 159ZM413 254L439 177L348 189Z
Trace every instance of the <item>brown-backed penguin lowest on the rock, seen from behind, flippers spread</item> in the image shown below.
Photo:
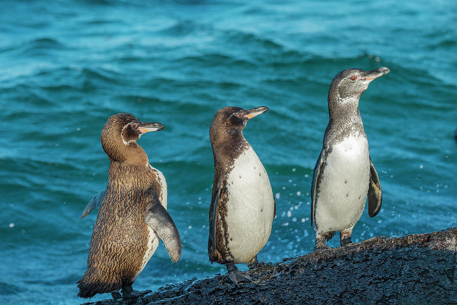
M179 232L167 212L167 182L137 144L143 134L163 128L160 123L142 123L129 113L111 116L103 127L102 147L111 161L108 186L90 200L81 215L84 218L100 206L87 271L77 282L79 297L111 292L114 299L128 299L151 292L134 291L132 284L159 238L173 262L181 256Z

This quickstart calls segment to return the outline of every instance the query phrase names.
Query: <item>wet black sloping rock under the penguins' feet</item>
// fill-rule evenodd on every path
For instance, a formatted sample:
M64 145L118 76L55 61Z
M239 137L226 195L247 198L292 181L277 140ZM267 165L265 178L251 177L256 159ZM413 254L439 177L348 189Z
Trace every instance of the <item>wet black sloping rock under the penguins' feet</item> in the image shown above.
M135 301L86 304L457 304L457 228L373 237L250 271L161 287Z

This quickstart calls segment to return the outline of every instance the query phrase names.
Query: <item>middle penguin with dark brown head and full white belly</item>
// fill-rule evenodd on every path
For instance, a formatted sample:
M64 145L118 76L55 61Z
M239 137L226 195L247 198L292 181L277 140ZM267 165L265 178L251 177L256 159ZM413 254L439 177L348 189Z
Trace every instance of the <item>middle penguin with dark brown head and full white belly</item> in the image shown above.
M243 136L246 122L268 110L224 107L210 127L214 183L209 211L208 255L226 266L235 283L251 282L235 264L257 267L257 253L271 234L276 203L267 171Z

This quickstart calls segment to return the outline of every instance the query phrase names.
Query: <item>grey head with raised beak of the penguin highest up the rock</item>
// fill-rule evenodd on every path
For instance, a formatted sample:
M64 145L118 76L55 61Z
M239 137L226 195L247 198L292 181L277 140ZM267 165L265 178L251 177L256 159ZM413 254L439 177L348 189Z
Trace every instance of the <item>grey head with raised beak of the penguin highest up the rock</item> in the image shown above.
M371 81L389 72L390 70L387 67L371 71L357 68L343 70L333 78L329 89L329 102L358 102L358 99L368 88Z

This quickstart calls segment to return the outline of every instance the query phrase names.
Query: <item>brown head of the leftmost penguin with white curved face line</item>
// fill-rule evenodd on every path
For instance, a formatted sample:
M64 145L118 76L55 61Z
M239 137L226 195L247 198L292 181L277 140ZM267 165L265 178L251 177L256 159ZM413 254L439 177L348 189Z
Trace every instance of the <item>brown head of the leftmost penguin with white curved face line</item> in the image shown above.
M108 118L100 140L108 157L122 162L134 155L133 150L141 148L137 140L143 134L161 129L164 126L160 123L143 123L130 113L118 113Z

